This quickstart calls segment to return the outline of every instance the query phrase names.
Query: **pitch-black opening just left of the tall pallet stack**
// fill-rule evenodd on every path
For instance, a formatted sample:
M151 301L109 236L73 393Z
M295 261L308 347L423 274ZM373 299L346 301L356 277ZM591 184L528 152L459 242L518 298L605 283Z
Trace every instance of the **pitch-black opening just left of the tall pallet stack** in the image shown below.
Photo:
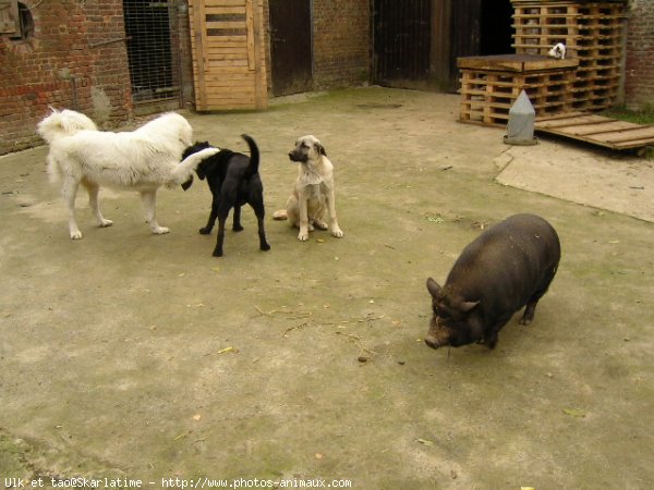
M480 54L508 54L511 47L513 7L510 0L483 0Z

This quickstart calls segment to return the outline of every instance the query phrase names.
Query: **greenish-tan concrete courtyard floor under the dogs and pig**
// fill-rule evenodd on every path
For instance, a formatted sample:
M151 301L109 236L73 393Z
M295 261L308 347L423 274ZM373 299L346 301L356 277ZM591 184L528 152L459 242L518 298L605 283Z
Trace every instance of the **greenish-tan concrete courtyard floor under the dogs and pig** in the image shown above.
M73 242L47 148L0 158L0 478L649 488L652 162L509 147L457 123L458 102L371 87L185 114L197 139L245 150L247 133L262 150L272 248L244 208L219 259L215 233L197 233L202 181L159 193L161 236L134 193L100 193L108 229L81 195ZM300 243L271 219L304 134L335 164L342 240ZM426 278L524 211L562 244L534 322L511 320L495 351L426 347Z

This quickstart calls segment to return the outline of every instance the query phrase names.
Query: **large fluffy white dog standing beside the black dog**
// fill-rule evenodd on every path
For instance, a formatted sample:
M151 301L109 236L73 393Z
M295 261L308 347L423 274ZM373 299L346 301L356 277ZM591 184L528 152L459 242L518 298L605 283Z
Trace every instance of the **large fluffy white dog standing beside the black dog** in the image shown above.
M180 114L170 112L136 131L98 131L86 115L64 109L37 125L37 133L50 145L48 173L51 181L63 181L62 195L69 208L71 238L82 238L75 221L75 195L82 184L88 192L89 206L100 226L111 220L100 212L100 186L137 191L153 233L168 233L156 219L157 189L184 183L195 167L219 151L207 148L180 163L182 151L193 143L193 130Z

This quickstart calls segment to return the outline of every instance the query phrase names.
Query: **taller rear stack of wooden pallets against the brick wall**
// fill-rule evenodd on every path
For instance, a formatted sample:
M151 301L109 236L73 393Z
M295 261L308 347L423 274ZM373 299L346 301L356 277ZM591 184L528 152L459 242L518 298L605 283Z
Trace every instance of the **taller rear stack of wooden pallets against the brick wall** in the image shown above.
M625 1L512 0L517 53L547 54L564 42L579 60L572 108L601 110L615 105L620 85Z

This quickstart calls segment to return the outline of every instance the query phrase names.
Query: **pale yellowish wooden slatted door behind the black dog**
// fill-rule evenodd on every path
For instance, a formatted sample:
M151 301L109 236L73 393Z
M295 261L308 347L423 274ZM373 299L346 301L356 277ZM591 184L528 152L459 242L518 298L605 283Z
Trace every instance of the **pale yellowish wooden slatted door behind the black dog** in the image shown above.
M195 109L265 109L262 0L189 0Z

